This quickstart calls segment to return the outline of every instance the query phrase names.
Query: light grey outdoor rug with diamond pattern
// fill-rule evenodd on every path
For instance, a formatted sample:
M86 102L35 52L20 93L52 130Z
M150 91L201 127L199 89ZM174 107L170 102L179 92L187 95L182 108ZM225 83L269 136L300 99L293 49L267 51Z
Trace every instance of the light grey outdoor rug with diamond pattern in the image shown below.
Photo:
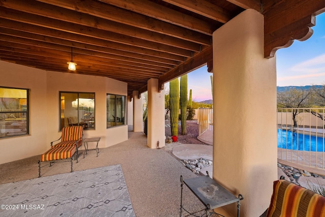
M0 216L135 216L120 165L0 185Z

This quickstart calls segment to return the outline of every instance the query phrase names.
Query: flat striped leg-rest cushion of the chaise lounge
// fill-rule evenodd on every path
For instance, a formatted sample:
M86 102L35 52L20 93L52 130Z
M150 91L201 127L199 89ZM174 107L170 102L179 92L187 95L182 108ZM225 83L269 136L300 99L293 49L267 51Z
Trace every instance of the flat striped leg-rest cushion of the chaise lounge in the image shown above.
M68 159L76 152L76 146L54 147L47 150L41 156L41 161L55 161Z

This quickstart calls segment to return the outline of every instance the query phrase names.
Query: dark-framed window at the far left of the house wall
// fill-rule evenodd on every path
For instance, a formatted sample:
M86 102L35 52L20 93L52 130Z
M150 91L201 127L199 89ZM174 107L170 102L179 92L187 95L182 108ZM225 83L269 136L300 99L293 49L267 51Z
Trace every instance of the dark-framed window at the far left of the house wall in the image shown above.
M0 138L28 134L28 89L0 87Z

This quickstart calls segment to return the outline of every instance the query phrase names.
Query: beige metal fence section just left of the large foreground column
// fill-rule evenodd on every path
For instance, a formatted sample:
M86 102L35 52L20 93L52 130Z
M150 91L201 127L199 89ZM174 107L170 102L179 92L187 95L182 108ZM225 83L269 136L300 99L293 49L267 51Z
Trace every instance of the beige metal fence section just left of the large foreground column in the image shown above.
M198 109L199 136L202 142L213 144L213 110L210 108Z

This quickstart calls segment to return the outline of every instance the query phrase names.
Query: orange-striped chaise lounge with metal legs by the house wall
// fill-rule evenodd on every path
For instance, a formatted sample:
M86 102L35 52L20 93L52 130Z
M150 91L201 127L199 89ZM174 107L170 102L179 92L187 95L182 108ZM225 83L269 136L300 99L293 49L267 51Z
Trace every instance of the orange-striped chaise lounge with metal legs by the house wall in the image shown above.
M78 148L82 145L83 128L81 126L72 126L62 128L62 135L59 139L51 142L51 148L41 156L39 164L39 177L41 176L41 162L50 162L65 160L71 162L71 172L73 170L72 157L76 155L78 163ZM53 142L59 141L53 145Z

